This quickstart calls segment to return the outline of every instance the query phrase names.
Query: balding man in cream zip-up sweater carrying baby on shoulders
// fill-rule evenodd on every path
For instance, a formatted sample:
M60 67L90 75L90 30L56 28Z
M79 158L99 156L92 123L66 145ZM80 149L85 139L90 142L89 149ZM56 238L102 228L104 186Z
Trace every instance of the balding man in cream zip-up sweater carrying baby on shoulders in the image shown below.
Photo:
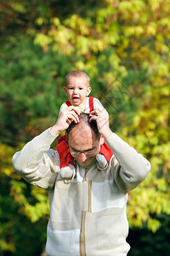
M77 164L70 183L59 173L59 154L49 149L65 129ZM114 155L99 171L95 156L104 139ZM29 183L48 189L48 255L127 255L127 192L144 180L150 163L111 131L105 109L88 117L73 106L65 108L53 127L14 154L13 163Z

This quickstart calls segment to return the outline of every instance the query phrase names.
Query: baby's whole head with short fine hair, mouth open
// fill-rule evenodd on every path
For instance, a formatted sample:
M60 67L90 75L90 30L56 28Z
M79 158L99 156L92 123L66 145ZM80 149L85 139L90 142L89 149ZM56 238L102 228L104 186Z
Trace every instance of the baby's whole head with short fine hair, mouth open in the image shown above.
M90 94L90 79L87 73L72 71L65 77L65 94L74 106L80 106Z

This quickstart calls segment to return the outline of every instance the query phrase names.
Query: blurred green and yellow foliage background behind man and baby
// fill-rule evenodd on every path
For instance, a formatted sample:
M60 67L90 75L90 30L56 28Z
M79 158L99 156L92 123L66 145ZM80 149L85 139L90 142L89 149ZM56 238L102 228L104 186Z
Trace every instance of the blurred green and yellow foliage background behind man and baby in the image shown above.
M75 69L152 166L128 197L128 255L169 255L170 0L1 0L0 255L45 255L47 191L12 156L54 125Z

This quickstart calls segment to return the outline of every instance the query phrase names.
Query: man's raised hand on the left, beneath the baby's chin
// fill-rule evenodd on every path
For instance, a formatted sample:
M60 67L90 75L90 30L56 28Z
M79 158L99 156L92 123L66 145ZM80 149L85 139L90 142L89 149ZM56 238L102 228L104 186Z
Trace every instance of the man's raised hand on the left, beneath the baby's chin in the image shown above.
M71 122L74 121L76 124L79 123L79 110L74 106L65 108L59 113L59 118L54 126L51 127L50 131L54 135L59 135L61 131L65 131Z

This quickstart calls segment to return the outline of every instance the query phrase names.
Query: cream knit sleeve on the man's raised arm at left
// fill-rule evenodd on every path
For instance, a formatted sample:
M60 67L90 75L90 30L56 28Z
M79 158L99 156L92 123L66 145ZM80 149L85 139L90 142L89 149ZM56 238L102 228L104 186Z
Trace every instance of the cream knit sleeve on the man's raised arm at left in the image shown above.
M43 131L14 154L14 170L28 183L43 189L53 189L59 172L59 155L49 148L56 137L49 129Z

